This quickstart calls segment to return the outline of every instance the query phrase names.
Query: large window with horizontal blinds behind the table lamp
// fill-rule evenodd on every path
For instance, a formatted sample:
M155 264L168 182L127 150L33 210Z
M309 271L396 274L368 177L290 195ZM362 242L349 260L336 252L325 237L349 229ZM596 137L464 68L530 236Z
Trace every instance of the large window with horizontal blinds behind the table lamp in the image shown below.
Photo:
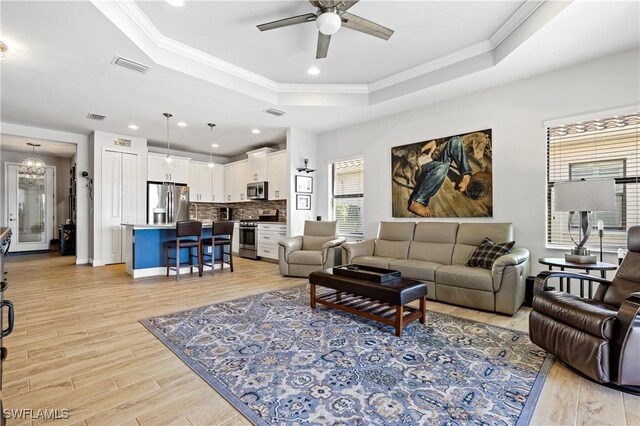
M598 248L596 224L604 222L603 249L626 247L627 229L640 224L640 113L547 128L547 246L573 247L568 212L556 212L554 185L570 180L614 178L616 211L593 212L587 245ZM578 221L572 223L577 239Z

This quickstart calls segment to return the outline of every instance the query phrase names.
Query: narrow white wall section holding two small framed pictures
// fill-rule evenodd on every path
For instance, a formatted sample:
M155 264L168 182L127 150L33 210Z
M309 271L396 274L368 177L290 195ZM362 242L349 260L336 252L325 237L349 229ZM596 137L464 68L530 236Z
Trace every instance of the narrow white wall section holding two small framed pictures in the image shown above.
M309 159L309 167L317 169L318 137L314 133L302 129L287 129L287 164L289 165L289 197L287 203L287 235L302 235L305 220L316 220L318 206L318 176L313 176L313 194L311 194L311 210L296 210L296 168L304 166L304 159ZM307 176L306 173L302 173Z

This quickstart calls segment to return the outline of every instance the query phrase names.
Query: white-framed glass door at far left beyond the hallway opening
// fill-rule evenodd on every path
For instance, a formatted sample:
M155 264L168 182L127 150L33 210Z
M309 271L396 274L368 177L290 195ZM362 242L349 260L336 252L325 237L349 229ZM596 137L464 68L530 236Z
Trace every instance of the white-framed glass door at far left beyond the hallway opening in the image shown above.
M5 167L11 251L48 250L55 223L55 167L47 167L36 179L27 179L18 169L18 164Z

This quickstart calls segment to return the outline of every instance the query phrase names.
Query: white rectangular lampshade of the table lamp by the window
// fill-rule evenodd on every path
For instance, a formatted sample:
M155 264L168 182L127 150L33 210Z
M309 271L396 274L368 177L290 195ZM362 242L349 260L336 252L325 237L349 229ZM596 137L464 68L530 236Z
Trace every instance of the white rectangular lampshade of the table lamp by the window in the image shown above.
M615 179L574 180L554 185L555 211L596 212L616 209Z

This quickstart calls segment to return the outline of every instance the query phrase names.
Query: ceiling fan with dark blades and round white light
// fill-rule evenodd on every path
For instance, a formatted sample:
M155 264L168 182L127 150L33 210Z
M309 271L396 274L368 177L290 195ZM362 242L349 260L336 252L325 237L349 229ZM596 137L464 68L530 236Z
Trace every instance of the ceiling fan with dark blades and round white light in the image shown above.
M258 29L260 31L268 31L275 28L315 21L316 27L318 28L316 59L327 57L331 35L335 34L342 26L384 40L389 40L389 37L393 34L393 30L347 12L347 10L358 3L358 1L360 0L309 0L309 3L318 8L316 13L307 13L305 15L267 22L266 24L258 25Z

